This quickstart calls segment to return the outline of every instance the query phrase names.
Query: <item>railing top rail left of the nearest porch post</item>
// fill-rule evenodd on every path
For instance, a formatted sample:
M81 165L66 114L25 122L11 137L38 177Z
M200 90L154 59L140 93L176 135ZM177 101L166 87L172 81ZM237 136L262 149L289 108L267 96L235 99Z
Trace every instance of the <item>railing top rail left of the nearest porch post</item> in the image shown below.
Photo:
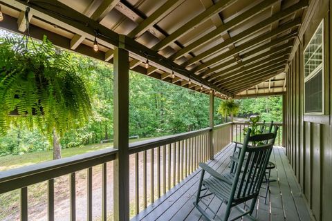
M43 182L115 160L116 153L118 153L117 149L107 148L92 153L83 153L59 160L42 162L8 171L0 171L0 193L6 193L30 184Z

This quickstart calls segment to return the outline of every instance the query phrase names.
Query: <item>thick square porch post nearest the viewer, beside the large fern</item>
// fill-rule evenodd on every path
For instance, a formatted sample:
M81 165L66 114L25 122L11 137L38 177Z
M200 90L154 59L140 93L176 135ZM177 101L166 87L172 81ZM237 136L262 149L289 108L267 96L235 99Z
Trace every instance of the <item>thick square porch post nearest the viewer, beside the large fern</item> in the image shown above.
M118 155L113 161L114 220L129 220L129 53L120 46L114 49L114 148ZM124 38L123 38L124 39Z

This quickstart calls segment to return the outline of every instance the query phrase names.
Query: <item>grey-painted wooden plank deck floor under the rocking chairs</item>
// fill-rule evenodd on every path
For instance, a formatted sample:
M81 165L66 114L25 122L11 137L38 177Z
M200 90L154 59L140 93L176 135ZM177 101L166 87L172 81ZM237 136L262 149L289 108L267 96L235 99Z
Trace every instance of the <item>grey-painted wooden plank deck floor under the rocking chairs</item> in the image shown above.
M208 164L216 171L223 172L228 169L231 153L232 145L224 148L221 153L216 155L215 160ZM270 160L276 163L276 169L271 171L271 179L277 181L270 183L270 194L266 204L264 204L265 199L259 197L253 215L257 220L311 220L291 166L286 159L284 148L273 148ZM196 196L200 172L201 169L196 170L132 220L205 220L192 204ZM263 188L261 195L265 195ZM213 196L209 200L205 200L205 203L210 205L210 209L218 211L218 215L221 215L225 209ZM212 214L209 210L206 211ZM231 217L236 215L237 210L234 209ZM243 220L248 220L248 218L245 217Z

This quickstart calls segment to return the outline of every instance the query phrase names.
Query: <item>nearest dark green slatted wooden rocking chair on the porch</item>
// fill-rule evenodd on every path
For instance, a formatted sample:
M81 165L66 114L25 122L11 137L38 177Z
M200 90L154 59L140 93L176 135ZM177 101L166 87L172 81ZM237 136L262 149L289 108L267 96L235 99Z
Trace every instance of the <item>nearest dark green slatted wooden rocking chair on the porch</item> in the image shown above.
M232 218L232 220L241 218L244 215L248 215L249 218L255 220L251 214L255 208L255 204L259 196L259 189L261 188L261 183L263 182L266 166L273 149L273 144L270 142L261 146L250 147L248 146L248 143L273 140L275 134L266 133L250 137L250 133L251 130L249 129L246 139L243 142L239 158L232 159L237 162L237 169L234 173L234 177L232 175L232 180L228 178L230 172L220 174L214 171L214 169L207 164L199 164L203 170L194 206L208 220L214 219L210 218L208 213L205 212L199 203L205 204L201 199L212 194L221 200L221 204L226 204L226 211L223 218L219 218L219 216L212 211L215 217L223 221L228 220L231 209L234 207L240 211L241 215L238 215L236 218ZM205 172L209 173L211 176L204 179ZM205 190L205 195L201 195L201 192ZM239 204L248 200L252 200L249 210L241 209ZM208 205L205 204L205 206L208 208Z

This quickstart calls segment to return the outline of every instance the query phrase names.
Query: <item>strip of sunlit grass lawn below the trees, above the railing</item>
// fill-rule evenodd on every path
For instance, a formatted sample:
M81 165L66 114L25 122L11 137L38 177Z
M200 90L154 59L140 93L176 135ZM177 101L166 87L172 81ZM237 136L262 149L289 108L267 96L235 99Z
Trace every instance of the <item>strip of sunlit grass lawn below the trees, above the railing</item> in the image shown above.
M129 142L138 142L141 140L148 140L148 139L151 139L151 137L129 140ZM65 148L62 149L62 157L70 157L77 154L89 153L92 151L98 151L100 149L112 146L113 143L106 143L106 144L89 144L86 146ZM40 151L35 153L25 153L22 155L8 155L0 157L0 171L7 171L9 169L15 169L21 166L37 164L48 160L53 160L53 150Z

